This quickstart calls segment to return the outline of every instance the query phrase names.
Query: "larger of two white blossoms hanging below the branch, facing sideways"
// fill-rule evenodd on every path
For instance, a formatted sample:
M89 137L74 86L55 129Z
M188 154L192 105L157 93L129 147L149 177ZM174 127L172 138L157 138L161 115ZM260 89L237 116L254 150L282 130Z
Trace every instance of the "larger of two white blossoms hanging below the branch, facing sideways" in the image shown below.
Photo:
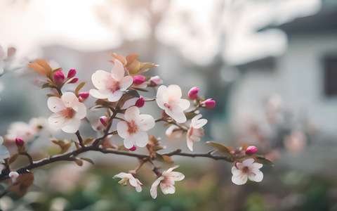
M185 178L185 175L180 172L172 172L179 166L169 168L169 170L163 172L161 176L154 181L151 186L150 193L152 198L157 198L157 186L160 184L161 191L166 194L173 194L176 192L176 188L174 187L175 181L181 181Z

